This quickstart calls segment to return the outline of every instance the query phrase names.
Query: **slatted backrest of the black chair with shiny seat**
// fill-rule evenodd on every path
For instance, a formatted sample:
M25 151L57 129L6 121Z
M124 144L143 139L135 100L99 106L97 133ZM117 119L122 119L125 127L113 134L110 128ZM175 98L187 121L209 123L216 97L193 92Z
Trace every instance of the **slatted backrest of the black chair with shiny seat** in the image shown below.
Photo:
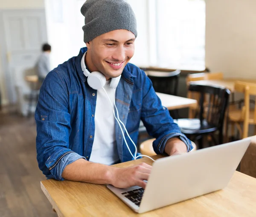
M224 87L204 86L190 83L189 91L200 94L199 119L207 120L222 133L230 90ZM206 103L205 103L206 102Z

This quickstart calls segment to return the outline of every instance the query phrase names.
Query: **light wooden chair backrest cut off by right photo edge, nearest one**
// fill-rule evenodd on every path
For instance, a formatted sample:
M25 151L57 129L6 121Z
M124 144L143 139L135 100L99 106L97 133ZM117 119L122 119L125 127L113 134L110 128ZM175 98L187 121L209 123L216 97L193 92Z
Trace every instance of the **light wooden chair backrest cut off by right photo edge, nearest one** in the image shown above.
M244 93L244 106L242 107L243 124L243 138L248 137L249 119L250 117L250 96L256 96L256 84L236 81L235 91ZM254 103L253 122L256 123L256 104Z

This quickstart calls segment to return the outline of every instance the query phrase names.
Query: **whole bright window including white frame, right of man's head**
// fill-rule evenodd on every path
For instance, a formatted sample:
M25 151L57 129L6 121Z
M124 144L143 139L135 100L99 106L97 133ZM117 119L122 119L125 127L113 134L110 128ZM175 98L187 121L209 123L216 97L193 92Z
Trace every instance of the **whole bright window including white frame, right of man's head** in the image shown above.
M170 69L205 69L204 0L141 0L140 9L137 0L127 2L134 9L138 24L133 63ZM147 61L142 59L145 56Z

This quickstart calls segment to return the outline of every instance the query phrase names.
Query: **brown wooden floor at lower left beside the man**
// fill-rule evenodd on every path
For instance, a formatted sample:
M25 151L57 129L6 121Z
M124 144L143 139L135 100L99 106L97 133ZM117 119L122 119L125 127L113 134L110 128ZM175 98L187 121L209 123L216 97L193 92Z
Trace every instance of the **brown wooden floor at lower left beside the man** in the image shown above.
M0 113L0 217L57 217L40 188L33 117Z

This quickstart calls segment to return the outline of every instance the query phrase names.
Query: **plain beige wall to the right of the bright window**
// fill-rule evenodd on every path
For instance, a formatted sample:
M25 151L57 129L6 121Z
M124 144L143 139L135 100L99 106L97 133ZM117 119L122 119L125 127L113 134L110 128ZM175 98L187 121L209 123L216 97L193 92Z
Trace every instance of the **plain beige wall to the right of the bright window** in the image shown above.
M206 0L206 66L256 78L256 0Z

